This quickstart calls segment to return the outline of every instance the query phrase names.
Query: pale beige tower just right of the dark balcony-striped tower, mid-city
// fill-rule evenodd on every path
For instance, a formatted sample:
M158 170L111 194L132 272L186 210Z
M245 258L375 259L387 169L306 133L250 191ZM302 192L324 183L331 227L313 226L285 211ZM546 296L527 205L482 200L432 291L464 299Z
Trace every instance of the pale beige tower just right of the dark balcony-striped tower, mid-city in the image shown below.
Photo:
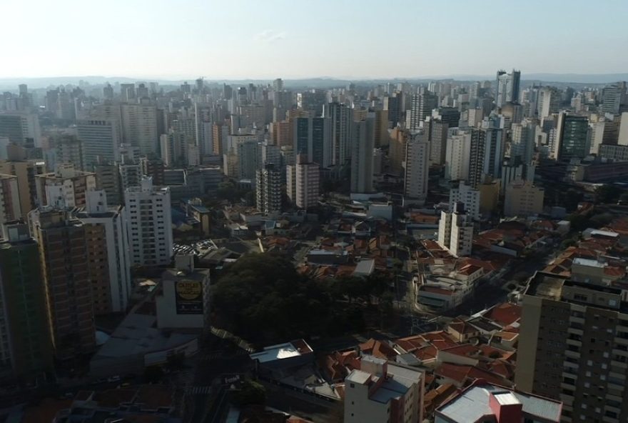
M308 209L318 204L320 167L317 163L299 155L295 164L285 166L285 179L288 198L295 206Z

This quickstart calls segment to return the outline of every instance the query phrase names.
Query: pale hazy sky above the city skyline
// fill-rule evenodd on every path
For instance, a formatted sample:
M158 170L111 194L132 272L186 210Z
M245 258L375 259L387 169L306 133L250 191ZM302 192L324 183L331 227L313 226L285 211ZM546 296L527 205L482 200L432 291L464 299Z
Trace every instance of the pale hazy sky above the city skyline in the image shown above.
M0 77L628 71L628 0L0 0Z

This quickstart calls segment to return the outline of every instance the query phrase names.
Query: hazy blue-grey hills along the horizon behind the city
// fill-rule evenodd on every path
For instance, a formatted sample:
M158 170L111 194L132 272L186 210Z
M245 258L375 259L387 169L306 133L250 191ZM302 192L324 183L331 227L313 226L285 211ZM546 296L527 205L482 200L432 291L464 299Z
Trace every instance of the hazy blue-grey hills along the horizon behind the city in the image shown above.
M440 76L420 76L420 77L395 77L395 78L360 78L360 79L348 79L348 78L331 78L331 77L317 77L317 78L303 78L303 79L284 79L284 85L287 87L303 87L310 86L315 88L331 87L331 86L345 86L350 82L355 84L383 84L386 82L398 83L398 82L426 82L436 80L455 80L455 81L492 81L495 79L495 75L440 75ZM192 84L194 78L190 79L159 79L159 78L130 78L128 76L52 76L41 78L0 78L0 89L17 88L18 84L28 84L30 88L41 89L46 86L57 86L61 84L78 84L78 81L83 80L89 84L106 84L106 82L158 82L163 85L178 85L183 84L184 81L188 81ZM522 73L522 81L539 81L543 83L559 83L559 84L611 84L617 81L627 81L628 73L626 74L525 74ZM272 79L206 79L208 84L267 84Z

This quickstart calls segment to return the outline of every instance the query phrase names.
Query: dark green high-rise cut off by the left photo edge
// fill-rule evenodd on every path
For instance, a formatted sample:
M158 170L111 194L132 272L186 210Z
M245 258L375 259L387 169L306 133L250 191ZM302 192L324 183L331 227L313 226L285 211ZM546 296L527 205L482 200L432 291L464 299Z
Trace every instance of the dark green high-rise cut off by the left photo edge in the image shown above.
M26 224L0 227L0 368L33 376L51 370L54 357L39 248Z

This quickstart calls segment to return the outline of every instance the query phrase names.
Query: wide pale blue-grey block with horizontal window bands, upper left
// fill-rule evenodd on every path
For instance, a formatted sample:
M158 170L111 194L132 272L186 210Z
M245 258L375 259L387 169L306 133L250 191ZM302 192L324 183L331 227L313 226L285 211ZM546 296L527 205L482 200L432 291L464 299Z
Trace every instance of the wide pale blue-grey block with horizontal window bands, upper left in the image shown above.
M119 158L122 134L118 122L111 119L86 119L76 124L78 139L83 144L83 164L87 167L100 161Z

